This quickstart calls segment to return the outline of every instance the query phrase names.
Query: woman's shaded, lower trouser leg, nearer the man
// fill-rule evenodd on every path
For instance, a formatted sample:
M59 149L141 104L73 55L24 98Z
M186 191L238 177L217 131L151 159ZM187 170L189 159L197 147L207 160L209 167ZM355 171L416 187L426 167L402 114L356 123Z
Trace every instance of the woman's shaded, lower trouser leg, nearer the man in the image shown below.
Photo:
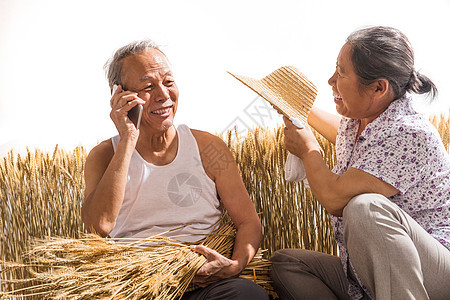
M272 255L271 277L283 299L349 299L348 280L339 257L303 250L283 249Z

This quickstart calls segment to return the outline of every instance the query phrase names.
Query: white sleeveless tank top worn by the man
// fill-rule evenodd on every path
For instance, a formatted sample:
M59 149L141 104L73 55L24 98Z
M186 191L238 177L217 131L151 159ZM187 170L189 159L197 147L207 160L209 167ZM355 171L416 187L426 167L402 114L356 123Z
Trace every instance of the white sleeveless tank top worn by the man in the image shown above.
M178 152L167 165L152 165L134 150L111 237L146 238L189 224L167 236L195 242L214 229L223 211L216 185L203 169L189 127L179 125L177 133ZM118 135L112 138L114 151L119 139Z

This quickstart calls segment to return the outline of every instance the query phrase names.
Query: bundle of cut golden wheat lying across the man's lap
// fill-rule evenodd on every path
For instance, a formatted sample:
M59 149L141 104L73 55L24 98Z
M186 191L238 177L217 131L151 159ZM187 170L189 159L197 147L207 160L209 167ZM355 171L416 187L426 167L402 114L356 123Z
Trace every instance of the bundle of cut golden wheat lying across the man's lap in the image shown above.
M234 243L231 222L210 234L204 245L230 257ZM26 280L10 280L10 292L45 299L176 299L188 288L206 258L189 245L164 235L130 242L87 235L82 239L36 241L26 263L5 263L5 270L26 269ZM269 263L259 254L243 273L269 292Z

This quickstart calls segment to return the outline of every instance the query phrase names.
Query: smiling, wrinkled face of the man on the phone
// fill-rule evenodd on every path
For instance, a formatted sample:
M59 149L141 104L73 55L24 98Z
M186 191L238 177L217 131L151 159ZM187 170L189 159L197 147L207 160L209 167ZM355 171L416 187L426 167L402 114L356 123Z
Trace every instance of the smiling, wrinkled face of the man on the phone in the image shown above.
M144 100L141 128L165 131L173 125L178 105L178 87L164 54L159 50L124 58L123 88L136 92Z

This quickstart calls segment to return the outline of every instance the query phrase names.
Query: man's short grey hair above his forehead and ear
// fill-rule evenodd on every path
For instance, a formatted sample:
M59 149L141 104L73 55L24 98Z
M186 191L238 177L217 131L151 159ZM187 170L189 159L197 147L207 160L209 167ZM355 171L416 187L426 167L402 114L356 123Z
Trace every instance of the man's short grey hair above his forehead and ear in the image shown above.
M159 46L150 39L134 41L118 49L104 66L109 86L122 84L122 61L125 57L145 52L148 49L156 49L164 54Z

